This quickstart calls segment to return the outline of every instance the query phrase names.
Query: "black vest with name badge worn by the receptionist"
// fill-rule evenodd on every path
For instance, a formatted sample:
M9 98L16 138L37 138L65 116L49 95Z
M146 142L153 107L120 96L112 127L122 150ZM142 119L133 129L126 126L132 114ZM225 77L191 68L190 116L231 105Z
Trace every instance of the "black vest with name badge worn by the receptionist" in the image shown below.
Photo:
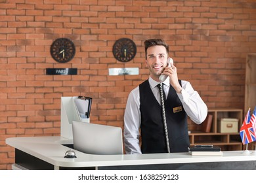
M181 84L181 80L179 80ZM148 80L139 86L140 112L141 112L141 151L142 153L167 152L161 105L156 100ZM165 101L165 114L171 152L188 152L190 146L188 137L187 116L184 108L182 111L173 112L175 108L182 107L182 103L172 86L170 86L167 100Z

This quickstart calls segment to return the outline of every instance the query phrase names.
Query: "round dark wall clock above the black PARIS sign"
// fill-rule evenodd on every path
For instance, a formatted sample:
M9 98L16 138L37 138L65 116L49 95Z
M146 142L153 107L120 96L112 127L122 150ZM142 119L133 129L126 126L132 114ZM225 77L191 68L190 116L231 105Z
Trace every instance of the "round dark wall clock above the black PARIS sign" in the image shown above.
M75 56L75 44L70 39L56 39L51 45L51 56L60 63L66 63Z

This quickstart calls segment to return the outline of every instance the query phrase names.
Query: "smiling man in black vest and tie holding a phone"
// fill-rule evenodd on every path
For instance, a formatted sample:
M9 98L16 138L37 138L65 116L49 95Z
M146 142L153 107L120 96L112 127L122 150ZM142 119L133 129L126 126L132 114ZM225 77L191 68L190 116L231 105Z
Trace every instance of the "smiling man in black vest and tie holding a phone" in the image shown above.
M201 124L207 116L207 106L189 82L178 79L173 63L171 67L166 67L169 46L163 40L149 39L144 45L145 63L150 76L132 90L127 99L124 115L125 152L188 152L187 115L196 124ZM162 73L168 76L163 81L166 128L157 87Z

